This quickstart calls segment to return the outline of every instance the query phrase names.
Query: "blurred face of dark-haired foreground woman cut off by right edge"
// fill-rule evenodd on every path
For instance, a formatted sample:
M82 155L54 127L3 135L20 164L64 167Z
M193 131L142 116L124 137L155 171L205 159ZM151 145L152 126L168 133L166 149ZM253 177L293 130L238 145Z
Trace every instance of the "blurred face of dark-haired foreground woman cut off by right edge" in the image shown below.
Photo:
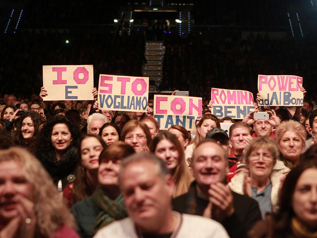
M317 169L306 169L299 177L293 194L292 207L302 224L317 228Z

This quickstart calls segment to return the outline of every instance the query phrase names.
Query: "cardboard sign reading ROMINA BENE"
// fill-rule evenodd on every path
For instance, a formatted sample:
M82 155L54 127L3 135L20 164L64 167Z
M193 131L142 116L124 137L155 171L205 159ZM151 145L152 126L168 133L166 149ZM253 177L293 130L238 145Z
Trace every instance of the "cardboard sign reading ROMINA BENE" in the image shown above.
M211 89L213 108L211 113L218 118L243 119L254 111L253 95L245 90Z

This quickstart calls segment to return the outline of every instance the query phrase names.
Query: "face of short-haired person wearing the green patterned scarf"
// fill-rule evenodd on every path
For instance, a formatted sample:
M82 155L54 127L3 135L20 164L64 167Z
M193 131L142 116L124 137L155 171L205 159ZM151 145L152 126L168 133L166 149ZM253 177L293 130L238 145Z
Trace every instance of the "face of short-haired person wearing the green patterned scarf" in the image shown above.
M121 160L103 159L98 168L98 181L101 186L119 186L118 176L121 168Z

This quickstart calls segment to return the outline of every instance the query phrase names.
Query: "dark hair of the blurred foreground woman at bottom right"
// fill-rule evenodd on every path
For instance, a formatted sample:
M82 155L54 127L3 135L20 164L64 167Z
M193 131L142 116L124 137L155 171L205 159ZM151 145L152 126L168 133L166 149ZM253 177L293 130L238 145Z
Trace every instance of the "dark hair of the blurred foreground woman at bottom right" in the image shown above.
M279 210L274 215L276 221L276 237L289 237L291 234L291 220L295 216L292 200L294 190L301 174L306 170L317 169L317 160L302 161L294 169L292 169L285 178L279 197ZM280 235L280 236L278 236Z

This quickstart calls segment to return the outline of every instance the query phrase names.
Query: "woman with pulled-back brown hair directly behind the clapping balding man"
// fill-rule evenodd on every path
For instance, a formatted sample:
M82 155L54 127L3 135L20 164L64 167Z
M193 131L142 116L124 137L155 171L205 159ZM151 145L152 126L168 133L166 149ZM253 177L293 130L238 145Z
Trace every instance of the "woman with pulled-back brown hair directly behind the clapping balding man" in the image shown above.
M198 123L197 136L186 147L186 150L185 150L186 162L191 160L191 157L193 155L194 149L196 148L196 145L198 145L199 142L206 139L207 132L216 127L220 128L220 121L217 118L217 116L212 114L206 114L203 116L203 118Z

